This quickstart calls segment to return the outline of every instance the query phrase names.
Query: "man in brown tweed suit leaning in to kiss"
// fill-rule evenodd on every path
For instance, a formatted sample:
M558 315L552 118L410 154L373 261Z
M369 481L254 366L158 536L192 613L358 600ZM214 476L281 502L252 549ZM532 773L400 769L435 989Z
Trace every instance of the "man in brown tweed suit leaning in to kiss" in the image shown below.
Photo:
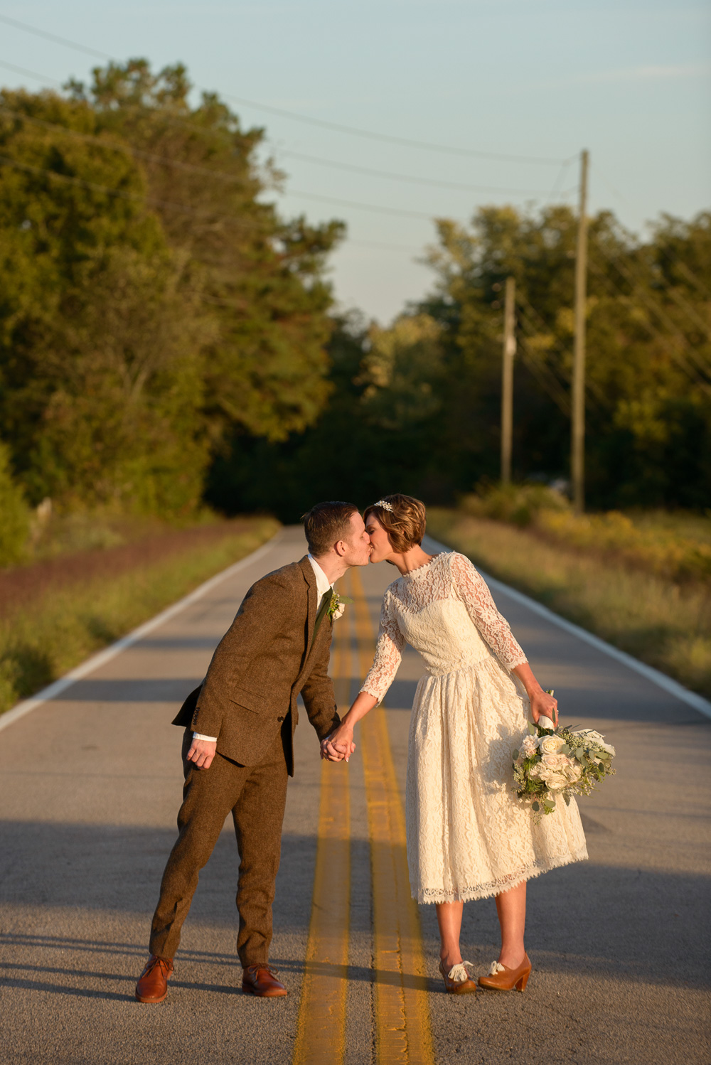
M328 675L333 583L366 566L370 541L358 508L318 503L304 515L309 554L262 577L244 597L204 681L177 718L183 737L179 835L163 873L139 1002L162 1002L198 874L232 813L239 852L237 953L242 989L286 994L269 967L286 777L301 693L319 740L340 724Z

